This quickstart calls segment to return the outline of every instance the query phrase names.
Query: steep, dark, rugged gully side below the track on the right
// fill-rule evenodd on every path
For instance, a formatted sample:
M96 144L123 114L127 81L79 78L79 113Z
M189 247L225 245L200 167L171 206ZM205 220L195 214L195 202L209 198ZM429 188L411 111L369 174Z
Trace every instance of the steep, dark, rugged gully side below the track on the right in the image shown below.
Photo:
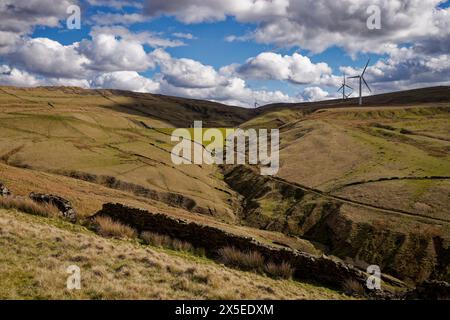
M251 227L305 238L360 268L379 265L404 281L450 280L450 224L340 201L258 175L245 166L223 167L241 194L239 217Z

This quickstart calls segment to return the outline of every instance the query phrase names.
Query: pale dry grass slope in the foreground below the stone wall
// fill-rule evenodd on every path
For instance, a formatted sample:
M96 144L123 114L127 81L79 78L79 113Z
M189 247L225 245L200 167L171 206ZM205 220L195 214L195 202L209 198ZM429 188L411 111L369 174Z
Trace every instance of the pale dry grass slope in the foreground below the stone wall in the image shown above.
M0 209L0 299L346 299L205 258L100 237L61 219ZM66 269L81 269L81 290Z

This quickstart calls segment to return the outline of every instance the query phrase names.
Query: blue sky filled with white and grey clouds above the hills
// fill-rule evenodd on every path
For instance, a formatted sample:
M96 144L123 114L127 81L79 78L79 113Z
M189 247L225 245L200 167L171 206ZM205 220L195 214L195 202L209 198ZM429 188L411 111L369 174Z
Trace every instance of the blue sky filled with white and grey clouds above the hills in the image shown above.
M449 85L449 2L0 0L0 85L252 108L337 98L369 59L364 95Z

